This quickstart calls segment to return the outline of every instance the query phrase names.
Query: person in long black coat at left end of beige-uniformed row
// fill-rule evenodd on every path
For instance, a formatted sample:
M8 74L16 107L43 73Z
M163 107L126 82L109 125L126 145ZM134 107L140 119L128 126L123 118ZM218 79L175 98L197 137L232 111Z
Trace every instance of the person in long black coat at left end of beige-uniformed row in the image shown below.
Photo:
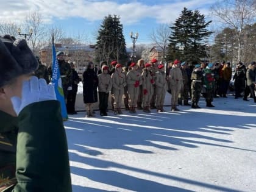
M93 62L89 62L87 69L83 74L83 96L87 115L85 117L92 117L93 103L98 102L98 76L94 72Z

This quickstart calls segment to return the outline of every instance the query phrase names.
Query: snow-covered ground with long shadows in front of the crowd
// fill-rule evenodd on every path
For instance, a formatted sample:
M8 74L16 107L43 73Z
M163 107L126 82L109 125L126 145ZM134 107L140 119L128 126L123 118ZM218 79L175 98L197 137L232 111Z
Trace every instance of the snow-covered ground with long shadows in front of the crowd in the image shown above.
M166 102L169 96L166 95ZM256 104L216 98L215 108L65 122L73 191L256 191Z

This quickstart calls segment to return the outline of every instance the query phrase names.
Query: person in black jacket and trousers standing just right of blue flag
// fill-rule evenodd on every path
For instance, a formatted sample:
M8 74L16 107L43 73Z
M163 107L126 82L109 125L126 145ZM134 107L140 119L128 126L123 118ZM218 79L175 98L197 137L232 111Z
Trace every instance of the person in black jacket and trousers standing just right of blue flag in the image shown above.
M77 87L81 79L79 78L76 70L74 69L74 63L69 63L72 71L72 90L68 91L67 96L67 102L66 102L66 110L69 115L77 114L75 110L75 104L76 104L76 93L77 93Z

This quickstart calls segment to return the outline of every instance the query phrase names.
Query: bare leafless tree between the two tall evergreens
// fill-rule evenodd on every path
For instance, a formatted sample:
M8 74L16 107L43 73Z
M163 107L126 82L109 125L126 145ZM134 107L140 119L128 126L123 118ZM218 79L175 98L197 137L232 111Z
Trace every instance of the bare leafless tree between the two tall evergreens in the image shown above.
M153 29L150 38L156 46L163 49L163 55L166 55L168 39L171 35L171 29L168 24L160 24L157 29Z

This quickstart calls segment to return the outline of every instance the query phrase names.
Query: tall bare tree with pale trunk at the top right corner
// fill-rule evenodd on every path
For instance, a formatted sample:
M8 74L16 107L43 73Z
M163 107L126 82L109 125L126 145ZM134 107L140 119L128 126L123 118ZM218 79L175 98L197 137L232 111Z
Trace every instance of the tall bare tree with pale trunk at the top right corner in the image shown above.
M226 27L235 29L235 38L237 41L237 60L244 60L245 49L243 44L246 44L246 25L252 24L256 20L256 1L255 0L224 0L216 2L211 7L211 12L221 23Z

